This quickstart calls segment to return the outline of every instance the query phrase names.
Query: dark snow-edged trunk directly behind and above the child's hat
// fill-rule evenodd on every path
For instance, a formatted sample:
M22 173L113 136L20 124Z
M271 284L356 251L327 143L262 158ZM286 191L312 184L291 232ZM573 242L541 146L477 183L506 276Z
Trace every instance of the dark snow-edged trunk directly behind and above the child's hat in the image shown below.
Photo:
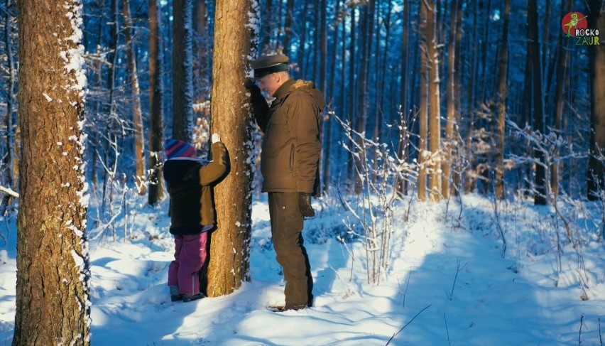
M193 139L192 0L173 1L173 139Z

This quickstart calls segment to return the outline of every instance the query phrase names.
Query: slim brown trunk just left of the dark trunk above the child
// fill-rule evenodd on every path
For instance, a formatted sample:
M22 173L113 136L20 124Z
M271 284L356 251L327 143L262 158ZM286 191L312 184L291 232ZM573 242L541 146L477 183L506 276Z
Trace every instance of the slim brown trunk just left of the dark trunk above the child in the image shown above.
M149 16L149 194L147 202L155 205L164 198L161 174L163 148L163 55L158 0L148 1Z

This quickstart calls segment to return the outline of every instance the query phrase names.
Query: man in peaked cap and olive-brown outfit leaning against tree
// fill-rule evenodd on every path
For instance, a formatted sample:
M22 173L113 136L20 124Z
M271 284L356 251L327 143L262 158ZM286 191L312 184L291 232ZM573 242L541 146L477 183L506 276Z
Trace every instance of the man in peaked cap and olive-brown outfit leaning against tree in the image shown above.
M312 82L290 78L285 55L263 55L251 65L258 86L249 80L246 88L251 92L256 123L265 134L261 173L263 192L268 193L273 248L285 279L283 310L299 310L313 301L302 227L304 217L315 216L311 196L319 189L319 124L325 101ZM271 107L261 90L274 97Z

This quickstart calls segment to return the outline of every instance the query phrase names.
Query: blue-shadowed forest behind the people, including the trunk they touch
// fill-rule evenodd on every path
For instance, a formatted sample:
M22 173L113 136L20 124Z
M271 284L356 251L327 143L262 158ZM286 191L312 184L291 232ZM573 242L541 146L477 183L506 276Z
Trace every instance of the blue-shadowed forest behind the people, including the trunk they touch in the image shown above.
M150 205L166 198L163 139L192 141L203 152L216 131L231 151L235 174L215 194L219 222L236 226L213 247L241 251L223 268L209 266L211 296L247 276L250 210L221 206L250 205L260 193L261 134L243 82L249 59L261 53L288 55L293 77L325 92L324 195L393 190L437 201L478 192L555 209L560 198L605 200L605 53L596 44L603 1L71 2L81 5L88 85L80 167L99 205L88 215L92 227L115 235L116 217L129 215L121 202L128 194L146 194ZM21 141L31 140L21 131L33 124L18 103L24 94L17 97L18 65L36 54L18 35L34 9L28 4L1 4L3 215L28 210L16 203L27 176ZM570 12L583 18L578 28L599 32L566 37Z

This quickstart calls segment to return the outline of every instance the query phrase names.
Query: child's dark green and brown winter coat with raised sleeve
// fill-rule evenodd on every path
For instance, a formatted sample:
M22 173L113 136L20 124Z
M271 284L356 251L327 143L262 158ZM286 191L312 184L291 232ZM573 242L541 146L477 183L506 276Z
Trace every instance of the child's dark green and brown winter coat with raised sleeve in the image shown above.
M192 158L165 161L164 179L170 194L170 233L197 234L216 225L212 183L222 178L228 167L227 148L212 144L212 161L202 165Z

